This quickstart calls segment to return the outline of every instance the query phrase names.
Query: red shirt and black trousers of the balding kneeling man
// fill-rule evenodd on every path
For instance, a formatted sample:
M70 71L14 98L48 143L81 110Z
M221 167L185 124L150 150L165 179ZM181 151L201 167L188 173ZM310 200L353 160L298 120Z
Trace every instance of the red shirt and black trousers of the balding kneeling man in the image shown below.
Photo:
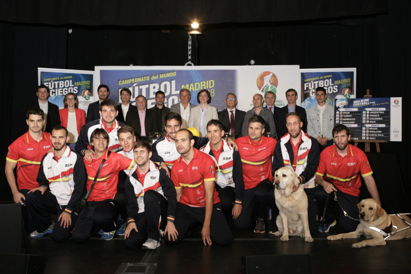
M183 156L174 163L171 180L176 189L182 189L179 203L177 203L174 225L178 231L175 241L164 234L164 241L174 244L184 239L189 228L204 223L206 217L206 189L204 182L215 181L216 165L210 155L194 149L194 156L190 164L186 164ZM233 234L228 226L226 217L221 211L218 192L214 188L214 206L210 222L211 238L219 245L229 245L233 241Z

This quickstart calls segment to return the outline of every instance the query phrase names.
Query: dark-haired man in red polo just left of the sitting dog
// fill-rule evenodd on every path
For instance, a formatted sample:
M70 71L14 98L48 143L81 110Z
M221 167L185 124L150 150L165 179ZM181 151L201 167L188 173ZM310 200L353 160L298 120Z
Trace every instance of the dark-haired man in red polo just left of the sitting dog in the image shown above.
M234 220L234 228L241 231L251 224L251 214L255 208L257 225L255 233L266 231L268 193L273 186L272 162L277 141L263 136L266 122L259 115L248 120L248 136L235 139L240 152L244 192L242 210Z

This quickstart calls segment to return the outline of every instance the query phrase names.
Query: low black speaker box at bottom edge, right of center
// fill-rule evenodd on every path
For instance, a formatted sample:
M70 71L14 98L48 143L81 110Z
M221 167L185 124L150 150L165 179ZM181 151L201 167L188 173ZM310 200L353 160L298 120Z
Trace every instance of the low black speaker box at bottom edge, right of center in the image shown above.
M242 274L311 274L309 254L241 256Z

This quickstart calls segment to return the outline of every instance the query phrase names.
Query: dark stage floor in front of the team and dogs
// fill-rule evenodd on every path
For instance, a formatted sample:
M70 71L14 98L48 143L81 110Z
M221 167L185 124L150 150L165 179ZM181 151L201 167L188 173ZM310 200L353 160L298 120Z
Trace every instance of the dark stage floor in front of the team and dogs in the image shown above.
M338 230L338 227L332 227L329 234L337 234ZM268 234L268 230L265 234L256 234L253 228L233 231L233 235L230 246L204 246L200 233L195 231L190 239L176 245L161 241L161 246L154 251L130 249L118 236L111 241L91 238L81 244L71 238L64 243L55 243L49 237L43 237L28 239L26 253L46 256L45 274L114 274L122 263L157 264L153 273L241 273L241 256L302 253L311 255L314 274L409 273L411 270L411 239L353 249L353 243L364 239L331 242L323 234L316 233L313 243L306 243L299 237L282 242L279 237Z

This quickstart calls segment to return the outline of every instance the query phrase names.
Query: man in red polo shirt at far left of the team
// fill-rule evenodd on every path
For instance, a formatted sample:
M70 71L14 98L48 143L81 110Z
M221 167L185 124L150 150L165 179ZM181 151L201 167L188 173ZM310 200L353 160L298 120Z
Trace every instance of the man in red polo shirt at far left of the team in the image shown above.
M23 204L29 190L39 186L37 173L43 156L51 148L50 134L43 132L44 112L40 108L27 111L29 131L17 138L6 157L6 177L14 203ZM13 170L17 166L17 184ZM18 187L18 188L17 188Z

